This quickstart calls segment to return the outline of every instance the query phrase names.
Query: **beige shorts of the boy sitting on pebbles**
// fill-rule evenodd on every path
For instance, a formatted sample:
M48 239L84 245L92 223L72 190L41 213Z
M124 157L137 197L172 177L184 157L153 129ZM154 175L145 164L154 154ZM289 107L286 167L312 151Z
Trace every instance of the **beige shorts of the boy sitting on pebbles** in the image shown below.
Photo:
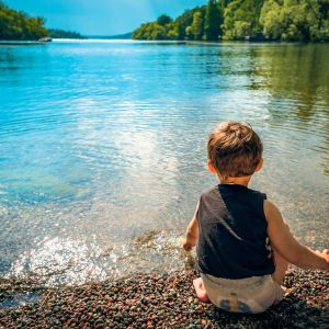
M201 274L211 302L227 311L262 313L283 299L283 288L271 275L247 279L222 279Z

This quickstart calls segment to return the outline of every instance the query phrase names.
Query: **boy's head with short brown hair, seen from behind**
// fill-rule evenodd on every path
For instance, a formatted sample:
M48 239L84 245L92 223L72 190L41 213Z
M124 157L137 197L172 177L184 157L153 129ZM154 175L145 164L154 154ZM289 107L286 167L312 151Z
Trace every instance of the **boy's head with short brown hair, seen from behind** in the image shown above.
M260 169L263 145L250 125L225 122L211 134L207 151L212 167L220 177L239 178Z

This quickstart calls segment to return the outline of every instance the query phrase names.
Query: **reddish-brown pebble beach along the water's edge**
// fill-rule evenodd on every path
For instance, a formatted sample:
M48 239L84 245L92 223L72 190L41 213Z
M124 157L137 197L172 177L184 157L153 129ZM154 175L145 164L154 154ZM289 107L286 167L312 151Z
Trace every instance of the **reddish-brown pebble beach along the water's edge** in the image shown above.
M193 270L44 287L0 281L0 328L329 328L329 275L292 269L285 298L259 315L228 314L194 296ZM16 302L16 296L34 296Z

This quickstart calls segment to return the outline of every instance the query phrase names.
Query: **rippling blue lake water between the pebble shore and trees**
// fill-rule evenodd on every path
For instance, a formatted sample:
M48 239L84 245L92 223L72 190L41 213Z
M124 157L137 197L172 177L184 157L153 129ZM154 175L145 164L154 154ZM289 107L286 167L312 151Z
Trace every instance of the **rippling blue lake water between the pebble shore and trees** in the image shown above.
M329 45L54 42L0 46L0 276L82 283L184 265L216 184L206 140L249 122L251 188L328 247Z

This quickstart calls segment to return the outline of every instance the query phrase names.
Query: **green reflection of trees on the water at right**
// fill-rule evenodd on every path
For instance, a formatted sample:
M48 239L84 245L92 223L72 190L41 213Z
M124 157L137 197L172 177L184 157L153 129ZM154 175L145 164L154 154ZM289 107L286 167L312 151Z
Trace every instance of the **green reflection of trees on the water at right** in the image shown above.
M276 54L275 54L276 53ZM287 46L268 56L261 75L273 95L269 105L272 125L297 129L309 138L320 136L319 152L324 173L329 174L329 61L327 45ZM263 56L264 57L264 56ZM291 104L286 106L285 104Z

